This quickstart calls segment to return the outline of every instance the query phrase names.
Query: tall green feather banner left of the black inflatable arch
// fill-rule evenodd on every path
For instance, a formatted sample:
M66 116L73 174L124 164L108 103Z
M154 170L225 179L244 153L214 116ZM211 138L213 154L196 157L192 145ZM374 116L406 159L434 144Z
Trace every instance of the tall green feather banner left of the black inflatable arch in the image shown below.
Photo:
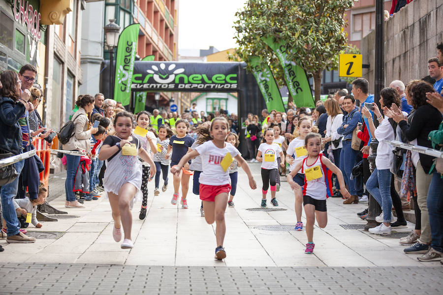
M127 26L119 37L115 59L114 98L127 106L131 99L132 72L134 71L140 24Z

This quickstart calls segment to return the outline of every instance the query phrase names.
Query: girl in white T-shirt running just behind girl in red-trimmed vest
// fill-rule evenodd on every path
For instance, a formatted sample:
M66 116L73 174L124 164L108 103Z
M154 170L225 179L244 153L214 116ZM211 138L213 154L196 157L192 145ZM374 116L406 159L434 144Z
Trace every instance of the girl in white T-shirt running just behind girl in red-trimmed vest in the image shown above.
M289 163L289 173L294 170L295 165L301 163L304 158L308 155L308 151L305 148L305 136L310 132L318 132L317 126L312 125L312 120L307 117L303 117L298 120L298 125L294 130L295 138L289 143L286 150L286 162ZM298 183L298 185L303 185L305 183L305 175L301 170L294 173L293 181ZM301 221L302 216L302 204L303 204L303 193L302 190L294 190L295 194L295 216L297 217L297 223L295 224L296 231L303 230L303 222Z

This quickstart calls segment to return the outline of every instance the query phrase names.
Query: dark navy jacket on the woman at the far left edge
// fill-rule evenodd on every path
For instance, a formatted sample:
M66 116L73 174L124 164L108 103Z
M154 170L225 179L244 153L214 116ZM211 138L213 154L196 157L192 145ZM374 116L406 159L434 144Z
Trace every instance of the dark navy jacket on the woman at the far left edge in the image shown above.
M19 118L25 114L25 106L9 97L0 97L0 150L22 153L22 129Z

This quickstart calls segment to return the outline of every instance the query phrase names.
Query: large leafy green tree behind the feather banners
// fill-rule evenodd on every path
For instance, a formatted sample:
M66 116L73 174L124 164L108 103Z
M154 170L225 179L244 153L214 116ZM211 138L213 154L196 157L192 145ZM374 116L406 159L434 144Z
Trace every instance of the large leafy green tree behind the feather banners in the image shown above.
M248 60L258 56L269 64L276 81L283 85L283 68L277 56L261 39L272 37L287 44L288 59L314 78L315 99L320 99L324 69L337 68L338 54L347 49L345 11L354 0L248 0L235 15L238 44L235 56ZM249 67L249 63L248 63ZM251 68L249 67L249 70Z

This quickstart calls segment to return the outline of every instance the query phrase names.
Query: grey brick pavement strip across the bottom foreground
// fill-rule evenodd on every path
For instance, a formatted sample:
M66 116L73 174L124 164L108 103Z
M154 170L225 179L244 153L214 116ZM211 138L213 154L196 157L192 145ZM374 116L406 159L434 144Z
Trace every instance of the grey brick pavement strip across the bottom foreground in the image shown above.
M443 267L0 264L0 294L442 294Z

